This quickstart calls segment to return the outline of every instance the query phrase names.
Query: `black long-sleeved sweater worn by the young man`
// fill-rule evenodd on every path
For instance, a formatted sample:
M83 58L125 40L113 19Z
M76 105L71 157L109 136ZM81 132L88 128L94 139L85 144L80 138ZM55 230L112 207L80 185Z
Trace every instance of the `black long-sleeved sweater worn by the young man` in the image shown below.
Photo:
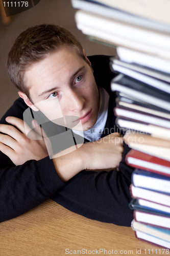
M110 95L105 132L114 132L115 94L110 90L110 81L115 74L110 71L109 56L90 56L89 59L96 83L104 87ZM6 123L7 116L23 119L23 112L27 108L21 98L17 99L3 116L1 123ZM105 133L102 137L106 135ZM85 217L130 226L133 211L128 204L131 200L129 186L133 168L125 163L129 148L124 146L118 172L111 170L95 173L82 170L66 183L57 175L49 157L15 166L0 152L0 222L15 218L52 198L65 208Z

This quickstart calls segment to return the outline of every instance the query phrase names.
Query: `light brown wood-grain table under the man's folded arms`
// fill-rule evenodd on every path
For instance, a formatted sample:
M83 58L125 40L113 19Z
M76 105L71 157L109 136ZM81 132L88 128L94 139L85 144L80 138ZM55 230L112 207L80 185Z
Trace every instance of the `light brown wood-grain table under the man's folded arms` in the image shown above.
M0 227L1 256L165 255L137 240L131 227L87 219L52 200Z

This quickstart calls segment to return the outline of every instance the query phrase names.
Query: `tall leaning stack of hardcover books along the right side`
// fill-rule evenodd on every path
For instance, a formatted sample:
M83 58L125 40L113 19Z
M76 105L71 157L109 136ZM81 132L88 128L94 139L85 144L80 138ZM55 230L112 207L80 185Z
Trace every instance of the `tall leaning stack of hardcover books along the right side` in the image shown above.
M77 27L116 47L110 67L116 124L132 148L136 237L170 248L170 2L72 0Z

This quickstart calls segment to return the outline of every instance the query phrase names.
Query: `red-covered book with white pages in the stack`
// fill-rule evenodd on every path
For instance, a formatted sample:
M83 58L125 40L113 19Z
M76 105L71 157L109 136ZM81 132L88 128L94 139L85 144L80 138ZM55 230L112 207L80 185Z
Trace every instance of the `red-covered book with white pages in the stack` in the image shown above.
M126 156L126 162L132 167L149 170L150 172L170 177L170 161L137 150L131 150Z

